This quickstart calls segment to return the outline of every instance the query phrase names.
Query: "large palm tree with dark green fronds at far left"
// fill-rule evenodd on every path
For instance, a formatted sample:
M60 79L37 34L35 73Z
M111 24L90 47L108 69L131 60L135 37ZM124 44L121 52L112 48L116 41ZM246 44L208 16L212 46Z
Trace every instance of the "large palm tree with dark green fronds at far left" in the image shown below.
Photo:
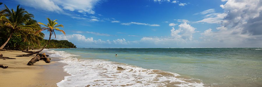
M23 8L19 8L20 5L17 6L16 11L14 9L9 10L9 8L5 5L6 8L6 17L1 16L1 20L4 23L0 23L1 27L5 27L6 30L9 29L10 35L6 42L0 47L3 49L6 46L7 42L12 37L13 33L21 32L21 33L33 33L33 28L40 28L40 26L32 24L32 25L24 25L27 20L33 19L33 14L29 14Z

